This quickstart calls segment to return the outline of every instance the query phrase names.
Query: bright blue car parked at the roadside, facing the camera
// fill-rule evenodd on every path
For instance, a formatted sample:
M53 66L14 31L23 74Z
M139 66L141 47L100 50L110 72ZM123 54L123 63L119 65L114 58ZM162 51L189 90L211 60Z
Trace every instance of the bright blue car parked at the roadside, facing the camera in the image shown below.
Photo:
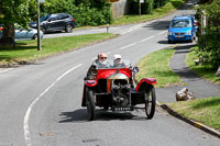
M176 41L194 42L196 38L195 18L191 15L175 16L168 29L168 43Z

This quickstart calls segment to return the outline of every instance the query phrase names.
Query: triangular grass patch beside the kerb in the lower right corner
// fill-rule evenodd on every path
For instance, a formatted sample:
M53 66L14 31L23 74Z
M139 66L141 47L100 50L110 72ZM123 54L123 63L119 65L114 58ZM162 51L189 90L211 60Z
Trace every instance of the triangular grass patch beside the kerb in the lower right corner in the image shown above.
M177 113L220 131L220 97L167 103Z

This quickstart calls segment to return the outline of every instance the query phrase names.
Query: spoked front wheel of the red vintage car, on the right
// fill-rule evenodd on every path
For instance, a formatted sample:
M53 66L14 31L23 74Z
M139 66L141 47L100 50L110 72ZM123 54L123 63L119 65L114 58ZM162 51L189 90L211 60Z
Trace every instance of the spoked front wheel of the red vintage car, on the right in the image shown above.
M156 108L156 94L155 94L155 89L152 86L146 90L146 93L145 93L146 119L150 120L154 116L155 108Z

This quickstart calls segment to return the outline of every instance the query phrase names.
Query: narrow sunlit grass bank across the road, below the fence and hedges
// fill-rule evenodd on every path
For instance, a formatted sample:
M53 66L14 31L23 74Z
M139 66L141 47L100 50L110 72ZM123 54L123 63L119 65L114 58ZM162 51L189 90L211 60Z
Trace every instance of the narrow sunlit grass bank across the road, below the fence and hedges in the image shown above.
M142 14L141 16L138 14L136 15L123 15L122 18L114 20L112 25L131 24L131 23L139 23L139 22L158 19L158 18L165 16L169 12L178 9L184 3L185 3L185 0L170 0L164 7L154 9L151 14Z

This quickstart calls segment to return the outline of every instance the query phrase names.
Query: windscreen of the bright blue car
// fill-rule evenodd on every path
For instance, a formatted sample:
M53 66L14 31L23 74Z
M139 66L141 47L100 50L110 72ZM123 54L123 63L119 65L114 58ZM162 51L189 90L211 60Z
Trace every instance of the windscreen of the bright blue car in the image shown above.
M170 27L190 27L191 21L190 19L179 19L179 20L172 20Z

